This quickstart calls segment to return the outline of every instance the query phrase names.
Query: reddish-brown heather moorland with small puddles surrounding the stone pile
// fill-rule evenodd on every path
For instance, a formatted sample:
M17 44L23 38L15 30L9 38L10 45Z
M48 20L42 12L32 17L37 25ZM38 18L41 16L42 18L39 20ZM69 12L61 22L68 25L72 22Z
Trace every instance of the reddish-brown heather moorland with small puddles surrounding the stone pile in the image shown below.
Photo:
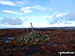
M4 56L59 56L58 52L75 52L74 29L34 29L41 34L48 35L50 40L42 45L25 45L14 42L13 38L27 35L31 29L1 29L0 30L0 55ZM10 37L10 38L9 38ZM11 39L12 38L12 39ZM6 41L10 40L10 41ZM66 55L75 56L75 55Z

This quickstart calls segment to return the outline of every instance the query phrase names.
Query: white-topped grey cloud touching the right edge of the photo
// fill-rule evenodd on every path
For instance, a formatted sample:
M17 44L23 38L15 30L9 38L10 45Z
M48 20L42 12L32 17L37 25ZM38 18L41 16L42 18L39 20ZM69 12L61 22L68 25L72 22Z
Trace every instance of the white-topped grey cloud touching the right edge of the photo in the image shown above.
M61 19L63 21L75 21L75 11L58 14L56 15L56 18Z

